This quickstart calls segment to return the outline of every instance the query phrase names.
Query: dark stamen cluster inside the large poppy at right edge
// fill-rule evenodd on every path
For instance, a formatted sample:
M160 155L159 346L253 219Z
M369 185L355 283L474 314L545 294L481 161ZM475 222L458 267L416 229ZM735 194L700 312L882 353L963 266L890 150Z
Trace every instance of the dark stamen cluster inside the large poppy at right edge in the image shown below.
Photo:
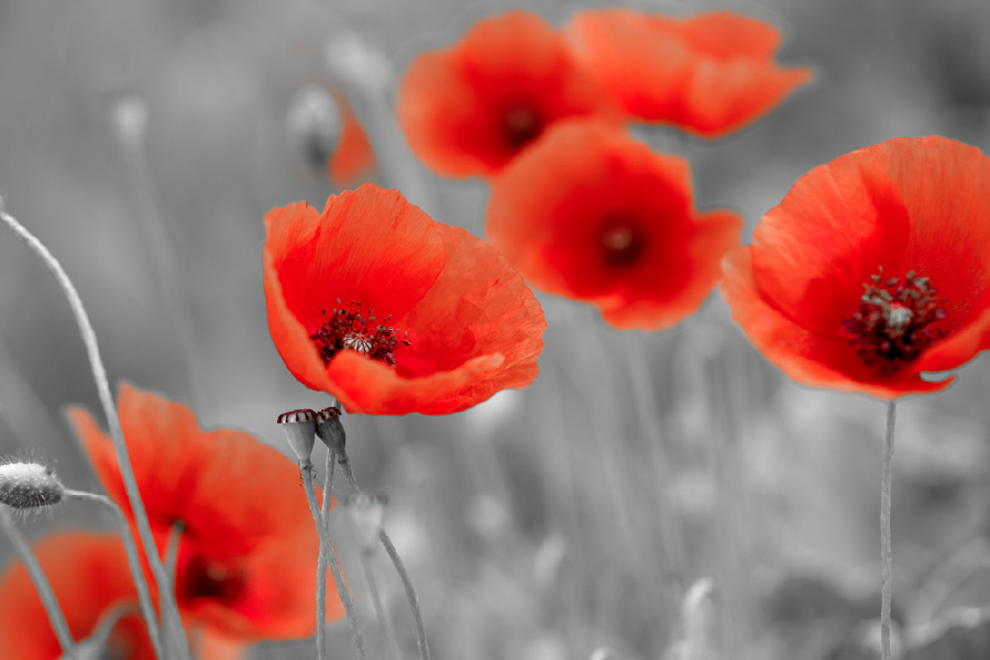
M945 318L939 307L944 299L927 277L914 271L901 277L883 278L883 270L862 285L859 308L843 321L853 334L853 345L867 365L876 366L883 376L893 375L904 362L916 360L945 331L930 326Z

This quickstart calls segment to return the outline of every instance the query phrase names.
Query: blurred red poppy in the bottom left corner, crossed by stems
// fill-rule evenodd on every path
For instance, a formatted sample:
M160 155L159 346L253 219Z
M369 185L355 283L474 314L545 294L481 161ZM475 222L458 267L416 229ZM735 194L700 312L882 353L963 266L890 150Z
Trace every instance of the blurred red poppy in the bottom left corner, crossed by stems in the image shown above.
M133 602L113 626L109 645L127 660L154 660L138 610L138 591L117 534L58 532L34 546L34 553L58 600L76 641L89 638L114 605ZM0 575L0 649L4 658L56 660L62 649L37 591L19 561Z

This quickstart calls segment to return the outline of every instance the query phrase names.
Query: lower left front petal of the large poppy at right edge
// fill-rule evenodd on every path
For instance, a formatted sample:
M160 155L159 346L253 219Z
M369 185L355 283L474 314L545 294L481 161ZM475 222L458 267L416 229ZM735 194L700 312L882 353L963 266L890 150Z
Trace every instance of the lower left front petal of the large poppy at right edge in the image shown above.
M864 364L848 339L823 336L795 323L789 315L763 297L755 278L751 246L737 248L723 262L722 295L733 310L733 319L743 328L763 356L792 380L815 387L840 392L861 392L881 399L905 394L938 392L953 378L922 381L914 363L893 376L881 376Z

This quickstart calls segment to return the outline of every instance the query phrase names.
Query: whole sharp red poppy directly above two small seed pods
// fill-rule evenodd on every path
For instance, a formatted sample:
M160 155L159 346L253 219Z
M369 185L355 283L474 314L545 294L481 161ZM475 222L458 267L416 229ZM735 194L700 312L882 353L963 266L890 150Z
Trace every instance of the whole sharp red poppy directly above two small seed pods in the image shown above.
M265 216L268 330L296 378L351 413L446 415L536 377L547 328L505 258L364 184Z

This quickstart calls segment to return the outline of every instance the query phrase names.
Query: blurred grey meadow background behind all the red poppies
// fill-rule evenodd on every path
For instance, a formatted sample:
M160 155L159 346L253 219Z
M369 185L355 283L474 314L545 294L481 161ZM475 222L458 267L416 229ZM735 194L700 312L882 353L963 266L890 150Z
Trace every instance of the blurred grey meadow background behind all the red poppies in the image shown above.
M397 78L417 53L510 7L0 0L0 195L74 278L111 383L283 449L276 416L327 400L296 382L268 337L263 218L299 199L322 208L339 191L289 129L294 96L310 84L343 89L376 148L406 158L405 174L383 167L372 179L483 235L486 186L408 161L375 114L394 97L362 95L361 67L371 53L376 75ZM561 24L590 7L526 8ZM692 161L697 205L741 213L744 243L795 179L861 146L941 134L987 151L983 0L635 7L769 20L787 35L779 61L816 69L755 125L674 141ZM163 240L178 279L157 267ZM584 660L607 647L619 659L674 658L700 578L715 585L691 609L711 646L692 658L872 657L884 406L787 381L717 293L656 333L540 300L549 329L528 389L450 417L344 418L360 483L391 497L385 526L419 588L435 657ZM959 376L899 406L894 609L915 660L990 657L990 367L977 360ZM99 410L75 322L44 266L0 233L0 455L44 460L68 486L99 490L63 420L69 404ZM77 505L24 522L32 538L110 525ZM356 576L356 544L340 516L334 526ZM11 554L0 539L0 564ZM384 561L380 583L414 657ZM384 657L373 609L355 595L369 650ZM330 648L353 657L345 624L331 628ZM311 641L251 651L312 654Z

